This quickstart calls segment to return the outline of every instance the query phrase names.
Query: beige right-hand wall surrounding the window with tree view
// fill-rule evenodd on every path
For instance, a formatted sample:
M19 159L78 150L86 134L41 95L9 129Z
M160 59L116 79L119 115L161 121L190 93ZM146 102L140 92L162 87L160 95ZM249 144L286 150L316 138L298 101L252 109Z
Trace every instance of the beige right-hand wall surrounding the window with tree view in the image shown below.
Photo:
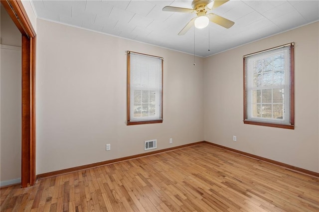
M243 55L289 42L295 42L295 129L244 124ZM319 22L205 58L204 139L319 172L318 61Z

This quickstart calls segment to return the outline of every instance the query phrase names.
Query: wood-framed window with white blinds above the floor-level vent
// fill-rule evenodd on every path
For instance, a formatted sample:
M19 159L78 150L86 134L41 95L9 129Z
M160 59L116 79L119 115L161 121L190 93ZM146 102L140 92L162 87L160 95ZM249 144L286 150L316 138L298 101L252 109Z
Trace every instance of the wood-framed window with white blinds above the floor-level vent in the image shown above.
M128 125L161 123L163 58L128 51Z

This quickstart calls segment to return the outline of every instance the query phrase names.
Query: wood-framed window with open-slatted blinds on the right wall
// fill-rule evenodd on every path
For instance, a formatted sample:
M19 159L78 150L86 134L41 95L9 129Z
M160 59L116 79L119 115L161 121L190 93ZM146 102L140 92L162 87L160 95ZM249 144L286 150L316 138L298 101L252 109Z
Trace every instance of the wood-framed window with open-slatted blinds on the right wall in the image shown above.
M294 43L244 56L244 123L294 129Z

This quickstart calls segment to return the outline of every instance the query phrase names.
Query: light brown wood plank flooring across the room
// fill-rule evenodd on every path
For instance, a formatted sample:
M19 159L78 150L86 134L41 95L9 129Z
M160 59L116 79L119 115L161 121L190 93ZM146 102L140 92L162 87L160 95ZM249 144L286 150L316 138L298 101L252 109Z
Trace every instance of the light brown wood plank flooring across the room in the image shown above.
M209 144L0 190L1 212L318 212L319 179Z

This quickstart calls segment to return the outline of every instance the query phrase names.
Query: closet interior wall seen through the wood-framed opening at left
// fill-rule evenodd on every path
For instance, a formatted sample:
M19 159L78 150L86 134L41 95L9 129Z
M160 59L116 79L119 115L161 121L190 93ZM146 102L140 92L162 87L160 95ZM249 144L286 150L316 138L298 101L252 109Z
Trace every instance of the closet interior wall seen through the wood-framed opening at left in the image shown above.
M0 7L0 186L5 186L21 181L21 48L16 47L21 33Z

